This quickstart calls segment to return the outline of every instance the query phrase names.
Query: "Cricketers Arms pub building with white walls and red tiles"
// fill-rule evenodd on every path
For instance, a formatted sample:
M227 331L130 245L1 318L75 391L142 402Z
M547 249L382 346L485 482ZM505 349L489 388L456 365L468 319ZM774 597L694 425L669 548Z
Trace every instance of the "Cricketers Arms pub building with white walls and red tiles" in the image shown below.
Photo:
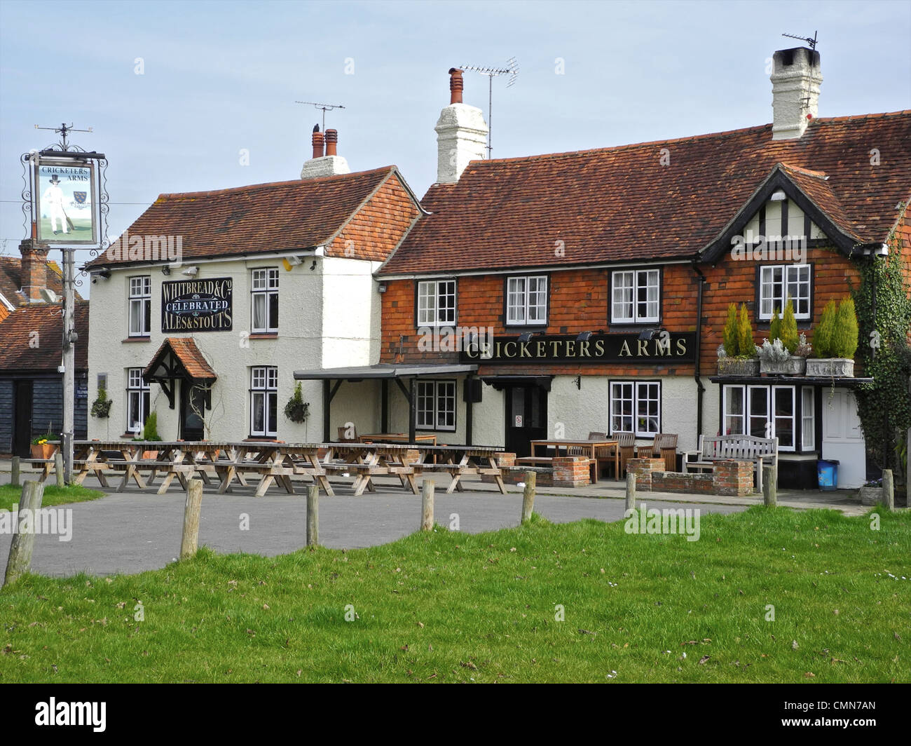
M394 167L324 175L337 156L321 133L300 181L162 195L129 243L181 237L179 262L123 246L89 267L107 275L93 326L125 319L122 341L93 330L89 365L115 404L90 433L136 430L149 409L165 440L343 429L518 455L591 432L676 433L679 451L750 432L778 439L781 484L814 487L825 458L857 486L863 370L725 378L716 351L732 302L761 343L790 296L810 337L893 231L911 255L911 112L817 118L819 54L773 67L772 124L496 160L453 68L420 202ZM222 326L177 320L207 315ZM295 381L302 425L282 415Z

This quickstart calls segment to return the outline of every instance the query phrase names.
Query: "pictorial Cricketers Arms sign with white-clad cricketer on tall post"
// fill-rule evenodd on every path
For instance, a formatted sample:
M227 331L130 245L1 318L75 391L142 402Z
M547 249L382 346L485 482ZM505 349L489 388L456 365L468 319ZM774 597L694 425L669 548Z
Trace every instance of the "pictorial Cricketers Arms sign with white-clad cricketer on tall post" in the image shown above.
M97 243L96 164L50 156L34 162L38 241Z

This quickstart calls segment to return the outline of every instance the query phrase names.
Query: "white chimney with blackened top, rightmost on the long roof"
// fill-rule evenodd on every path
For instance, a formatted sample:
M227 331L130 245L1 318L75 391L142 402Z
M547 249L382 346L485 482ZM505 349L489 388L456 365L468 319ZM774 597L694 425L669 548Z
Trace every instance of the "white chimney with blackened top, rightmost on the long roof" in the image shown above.
M772 71L772 139L804 134L819 108L819 52L806 47L775 52Z

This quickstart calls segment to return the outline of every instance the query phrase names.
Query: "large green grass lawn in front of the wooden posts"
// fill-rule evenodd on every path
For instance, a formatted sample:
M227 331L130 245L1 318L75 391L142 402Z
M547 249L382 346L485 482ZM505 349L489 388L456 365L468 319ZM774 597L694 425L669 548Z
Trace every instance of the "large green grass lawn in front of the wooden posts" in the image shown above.
M878 513L703 515L695 542L536 516L29 575L0 590L0 681L907 681L911 513Z

